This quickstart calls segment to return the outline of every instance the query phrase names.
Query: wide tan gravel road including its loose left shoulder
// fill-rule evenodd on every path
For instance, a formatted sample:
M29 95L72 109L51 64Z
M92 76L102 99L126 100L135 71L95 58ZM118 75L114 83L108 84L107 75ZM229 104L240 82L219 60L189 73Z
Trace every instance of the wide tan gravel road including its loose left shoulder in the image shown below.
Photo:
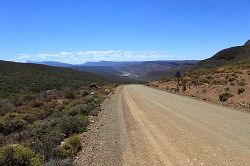
M120 87L92 129L76 165L250 165L250 114L142 85Z

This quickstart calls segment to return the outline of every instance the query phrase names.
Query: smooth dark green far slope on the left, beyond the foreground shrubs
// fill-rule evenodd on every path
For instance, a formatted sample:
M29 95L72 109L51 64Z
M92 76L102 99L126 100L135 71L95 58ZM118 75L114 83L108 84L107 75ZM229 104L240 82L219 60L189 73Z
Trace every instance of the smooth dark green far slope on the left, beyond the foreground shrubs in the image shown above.
M0 61L0 94L6 97L12 93L40 92L61 89L63 86L80 87L90 83L104 84L101 76L67 68L37 64Z

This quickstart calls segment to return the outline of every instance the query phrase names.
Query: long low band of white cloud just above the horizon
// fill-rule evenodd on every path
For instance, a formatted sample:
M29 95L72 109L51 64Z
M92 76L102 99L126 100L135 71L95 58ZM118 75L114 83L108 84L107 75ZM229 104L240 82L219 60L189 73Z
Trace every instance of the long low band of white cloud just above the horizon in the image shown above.
M58 53L20 54L16 61L60 61L81 64L87 61L150 61L169 60L172 56L164 51L77 51Z

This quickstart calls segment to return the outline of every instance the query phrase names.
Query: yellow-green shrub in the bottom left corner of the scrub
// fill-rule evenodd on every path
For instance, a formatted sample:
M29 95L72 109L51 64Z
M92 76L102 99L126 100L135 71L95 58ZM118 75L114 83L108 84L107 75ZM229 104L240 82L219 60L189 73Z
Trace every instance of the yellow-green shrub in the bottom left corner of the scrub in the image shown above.
M0 149L0 165L41 166L42 158L28 147L10 144Z

